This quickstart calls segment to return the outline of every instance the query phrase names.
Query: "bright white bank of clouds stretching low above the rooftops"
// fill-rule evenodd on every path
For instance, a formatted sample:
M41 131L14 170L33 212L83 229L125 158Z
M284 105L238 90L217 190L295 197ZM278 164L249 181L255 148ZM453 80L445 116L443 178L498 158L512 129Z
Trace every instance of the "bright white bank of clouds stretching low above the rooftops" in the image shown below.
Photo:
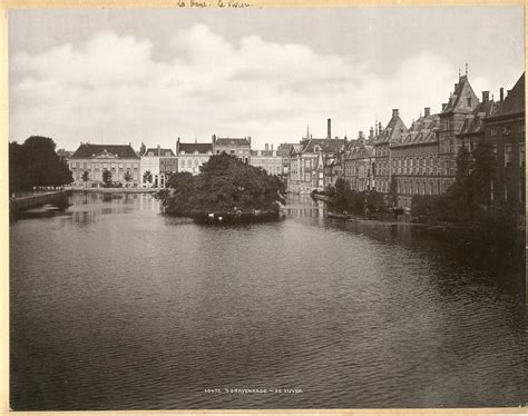
M352 55L323 53L301 42L250 34L228 40L196 23L174 32L170 52L106 29L84 43L58 44L10 59L10 139L50 136L75 149L80 140L173 146L212 133L264 142L299 141L311 125L324 136L387 123L399 108L409 125L423 107L440 110L457 69L433 51L395 60L390 76ZM381 51L380 51L381 53ZM520 76L520 73L519 73ZM471 79L470 79L471 80ZM485 76L473 88L490 89Z

